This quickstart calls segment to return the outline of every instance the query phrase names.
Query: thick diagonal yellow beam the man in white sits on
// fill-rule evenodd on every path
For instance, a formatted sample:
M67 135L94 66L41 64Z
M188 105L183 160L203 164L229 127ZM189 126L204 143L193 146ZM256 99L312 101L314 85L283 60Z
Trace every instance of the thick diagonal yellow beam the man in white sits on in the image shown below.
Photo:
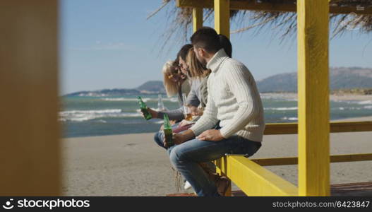
M248 196L297 196L297 187L244 156L225 156L217 160L217 169Z

